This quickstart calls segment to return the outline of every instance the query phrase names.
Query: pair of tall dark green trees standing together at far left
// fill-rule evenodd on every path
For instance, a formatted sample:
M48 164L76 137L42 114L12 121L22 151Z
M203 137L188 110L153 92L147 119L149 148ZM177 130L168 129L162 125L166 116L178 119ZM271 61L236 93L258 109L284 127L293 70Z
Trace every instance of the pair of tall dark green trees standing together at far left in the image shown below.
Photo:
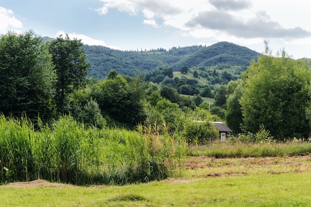
M33 31L0 38L0 111L49 120L66 110L69 95L86 83L89 64L80 40L68 35L42 43Z

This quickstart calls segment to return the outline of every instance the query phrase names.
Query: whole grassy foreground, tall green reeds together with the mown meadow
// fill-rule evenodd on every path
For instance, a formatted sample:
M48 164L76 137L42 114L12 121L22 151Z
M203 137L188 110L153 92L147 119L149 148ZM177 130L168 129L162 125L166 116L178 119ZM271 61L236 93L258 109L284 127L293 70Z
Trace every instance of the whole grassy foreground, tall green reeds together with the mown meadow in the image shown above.
M35 127L0 118L1 207L311 206L309 140L195 146L165 127L70 117Z

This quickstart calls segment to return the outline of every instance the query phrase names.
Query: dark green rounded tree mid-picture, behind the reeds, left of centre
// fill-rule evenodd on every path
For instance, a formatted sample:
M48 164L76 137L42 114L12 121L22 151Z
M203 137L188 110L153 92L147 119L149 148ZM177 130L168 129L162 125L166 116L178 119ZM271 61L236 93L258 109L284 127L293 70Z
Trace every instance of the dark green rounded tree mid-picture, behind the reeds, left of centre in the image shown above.
M140 81L137 77L125 78L117 74L113 79L99 81L94 86L91 97L96 99L103 115L133 127L145 118L143 100L146 87Z

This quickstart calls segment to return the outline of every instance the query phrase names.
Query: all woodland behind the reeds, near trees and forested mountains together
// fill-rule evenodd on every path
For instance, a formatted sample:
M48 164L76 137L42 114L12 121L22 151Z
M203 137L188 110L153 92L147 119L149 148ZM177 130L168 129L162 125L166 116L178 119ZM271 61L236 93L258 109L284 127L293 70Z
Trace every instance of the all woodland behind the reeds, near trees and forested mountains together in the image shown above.
M267 41L258 54L228 42L118 51L33 31L0 40L5 116L26 113L49 123L70 114L97 127L129 129L157 121L171 130L191 117L226 121L236 134L263 126L279 140L309 136L310 61L294 60L284 50L272 54ZM109 72L100 71L107 76L90 75L96 64L106 65Z

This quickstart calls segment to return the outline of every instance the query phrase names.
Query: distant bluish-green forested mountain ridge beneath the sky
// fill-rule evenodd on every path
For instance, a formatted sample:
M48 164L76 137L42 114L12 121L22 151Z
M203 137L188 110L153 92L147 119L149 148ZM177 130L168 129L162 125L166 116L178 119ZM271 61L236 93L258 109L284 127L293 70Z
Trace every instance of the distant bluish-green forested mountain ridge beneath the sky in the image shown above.
M211 46L172 47L168 51L162 48L151 51L120 51L89 45L83 45L83 48L86 61L91 64L88 77L96 79L105 78L111 70L134 76L137 71L146 74L163 66L170 66L174 71L179 71L183 66L248 66L259 55L253 50L229 42L219 42Z

